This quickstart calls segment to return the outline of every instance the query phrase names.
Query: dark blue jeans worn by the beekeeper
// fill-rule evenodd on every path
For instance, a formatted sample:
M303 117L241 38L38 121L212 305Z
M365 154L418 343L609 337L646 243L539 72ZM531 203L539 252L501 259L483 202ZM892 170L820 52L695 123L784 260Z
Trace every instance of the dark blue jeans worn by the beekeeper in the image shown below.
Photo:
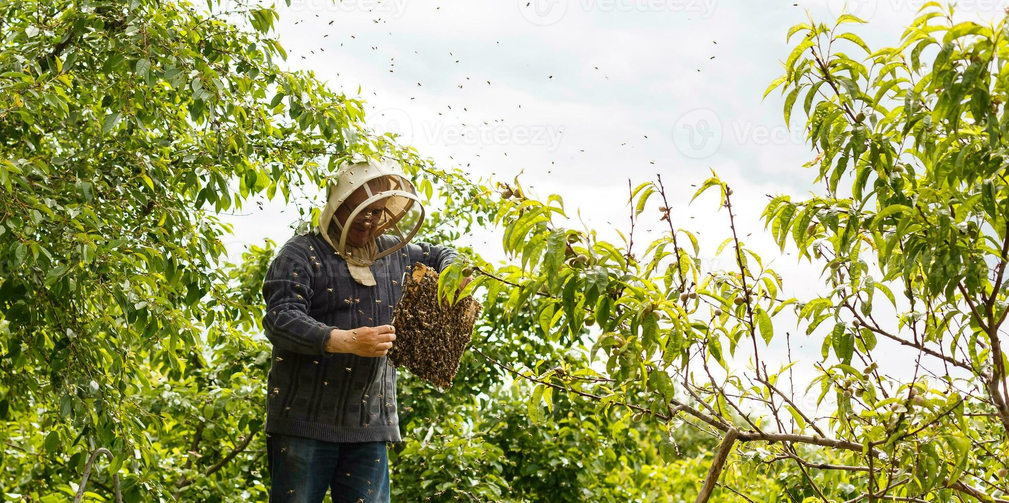
M384 441L331 442L270 433L266 455L271 503L320 503L327 489L333 503L389 500Z

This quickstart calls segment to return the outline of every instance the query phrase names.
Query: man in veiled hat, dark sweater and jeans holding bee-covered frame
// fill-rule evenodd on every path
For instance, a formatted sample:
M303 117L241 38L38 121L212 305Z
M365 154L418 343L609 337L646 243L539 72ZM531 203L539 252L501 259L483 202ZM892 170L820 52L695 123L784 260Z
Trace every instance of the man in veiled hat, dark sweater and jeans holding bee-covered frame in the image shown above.
M270 501L321 502L327 491L334 502L389 500L386 442L402 441L385 357L393 308L415 263L441 272L458 255L411 242L424 215L398 162L344 165L319 225L270 263L262 285Z

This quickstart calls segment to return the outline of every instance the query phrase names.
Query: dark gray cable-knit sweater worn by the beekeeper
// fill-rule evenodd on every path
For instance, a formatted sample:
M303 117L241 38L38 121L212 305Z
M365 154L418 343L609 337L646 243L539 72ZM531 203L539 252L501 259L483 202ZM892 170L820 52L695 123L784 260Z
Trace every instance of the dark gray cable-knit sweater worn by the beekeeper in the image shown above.
M397 242L382 234L378 250ZM403 273L416 262L441 272L455 248L410 242L371 265L374 286L353 280L346 261L316 231L281 247L262 284L262 326L273 344L266 432L320 440L401 441L396 368L386 357L327 353L332 328L388 323ZM395 342L394 342L395 343Z

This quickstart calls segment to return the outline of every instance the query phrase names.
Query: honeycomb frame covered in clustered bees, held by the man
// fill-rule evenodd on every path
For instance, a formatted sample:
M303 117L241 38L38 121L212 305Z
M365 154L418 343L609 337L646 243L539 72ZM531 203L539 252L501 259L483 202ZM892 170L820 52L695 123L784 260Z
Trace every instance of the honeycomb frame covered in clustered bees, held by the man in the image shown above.
M415 263L393 310L396 342L388 351L389 361L429 383L451 387L482 307L469 295L451 306L439 303L438 274Z

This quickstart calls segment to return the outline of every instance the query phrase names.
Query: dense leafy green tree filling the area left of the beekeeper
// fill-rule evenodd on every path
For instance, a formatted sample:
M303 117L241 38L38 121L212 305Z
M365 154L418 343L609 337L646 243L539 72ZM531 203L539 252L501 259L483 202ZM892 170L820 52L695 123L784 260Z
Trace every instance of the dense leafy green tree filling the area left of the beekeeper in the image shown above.
M254 1L0 4L5 498L73 497L88 467L89 490L110 495L115 473L127 501L263 497L253 335L272 248L226 267L221 215L325 187L352 157L440 173L365 127L361 100L285 70L276 18Z

